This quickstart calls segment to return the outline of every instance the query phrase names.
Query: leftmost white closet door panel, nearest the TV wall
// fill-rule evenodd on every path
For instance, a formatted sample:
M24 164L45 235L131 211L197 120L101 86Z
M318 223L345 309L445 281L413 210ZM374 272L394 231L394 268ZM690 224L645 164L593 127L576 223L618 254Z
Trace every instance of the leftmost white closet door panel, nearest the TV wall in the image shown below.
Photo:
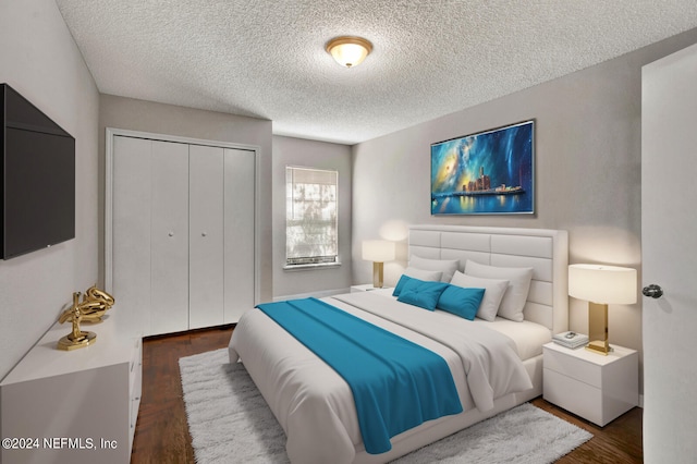
M113 137L112 286L113 310L125 313L134 333L150 323L150 149L143 138ZM131 330L129 331L131 333Z

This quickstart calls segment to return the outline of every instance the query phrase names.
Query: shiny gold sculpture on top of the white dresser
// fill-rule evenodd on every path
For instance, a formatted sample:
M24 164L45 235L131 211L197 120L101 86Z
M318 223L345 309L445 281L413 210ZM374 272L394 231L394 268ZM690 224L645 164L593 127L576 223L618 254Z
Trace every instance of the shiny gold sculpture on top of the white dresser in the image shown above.
M80 323L101 322L101 317L107 313L107 309L114 304L113 296L103 290L97 289L96 285L87 289L82 303L80 303L80 292L73 293L73 305L65 309L58 319L60 323L68 322L69 320L73 323L73 330L58 341L59 350L77 350L95 343L97 334L95 332L80 330Z

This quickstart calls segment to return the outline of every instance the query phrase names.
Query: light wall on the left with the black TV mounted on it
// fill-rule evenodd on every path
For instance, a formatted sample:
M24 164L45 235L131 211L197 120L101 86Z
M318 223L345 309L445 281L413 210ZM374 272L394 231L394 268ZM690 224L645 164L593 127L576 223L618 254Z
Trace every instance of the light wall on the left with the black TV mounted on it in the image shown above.
M75 239L0 260L0 378L97 282L99 95L53 0L0 2L0 82L75 137ZM70 327L65 328L65 333Z

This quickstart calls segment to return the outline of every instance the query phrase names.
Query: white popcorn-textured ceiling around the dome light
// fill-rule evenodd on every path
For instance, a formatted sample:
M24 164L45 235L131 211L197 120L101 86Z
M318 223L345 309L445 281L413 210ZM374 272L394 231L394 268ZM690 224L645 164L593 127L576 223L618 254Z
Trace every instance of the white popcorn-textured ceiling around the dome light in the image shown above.
M686 0L57 0L99 91L354 144L697 27ZM357 68L325 44L374 44Z

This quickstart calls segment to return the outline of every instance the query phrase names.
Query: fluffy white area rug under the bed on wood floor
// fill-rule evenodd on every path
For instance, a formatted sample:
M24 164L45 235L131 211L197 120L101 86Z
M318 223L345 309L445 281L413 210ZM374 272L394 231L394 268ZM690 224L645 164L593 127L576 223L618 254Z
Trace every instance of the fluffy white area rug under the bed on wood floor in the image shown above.
M196 462L288 463L285 435L242 364L221 349L179 361ZM592 435L523 404L398 461L552 463Z

